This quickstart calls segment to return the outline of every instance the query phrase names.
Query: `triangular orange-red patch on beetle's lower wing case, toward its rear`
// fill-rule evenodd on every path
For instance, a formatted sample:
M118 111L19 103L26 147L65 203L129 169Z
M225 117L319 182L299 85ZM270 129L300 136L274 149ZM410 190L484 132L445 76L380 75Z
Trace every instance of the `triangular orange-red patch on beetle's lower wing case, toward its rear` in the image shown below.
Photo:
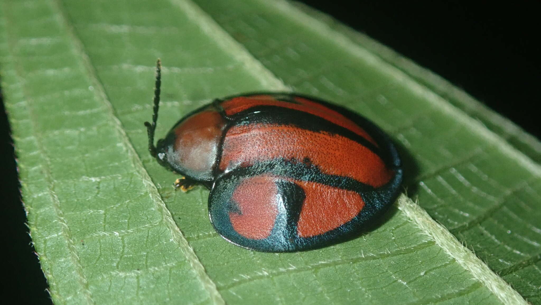
M297 223L300 237L311 237L340 227L364 208L361 196L349 190L325 184L295 181L306 194Z

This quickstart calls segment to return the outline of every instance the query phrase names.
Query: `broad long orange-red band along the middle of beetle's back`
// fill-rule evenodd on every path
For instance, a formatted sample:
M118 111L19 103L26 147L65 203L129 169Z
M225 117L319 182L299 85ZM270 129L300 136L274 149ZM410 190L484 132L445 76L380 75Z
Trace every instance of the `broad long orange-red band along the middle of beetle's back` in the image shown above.
M234 126L227 131L222 149L222 171L273 158L303 162L308 157L324 174L350 177L376 188L394 176L378 155L349 138L291 125Z

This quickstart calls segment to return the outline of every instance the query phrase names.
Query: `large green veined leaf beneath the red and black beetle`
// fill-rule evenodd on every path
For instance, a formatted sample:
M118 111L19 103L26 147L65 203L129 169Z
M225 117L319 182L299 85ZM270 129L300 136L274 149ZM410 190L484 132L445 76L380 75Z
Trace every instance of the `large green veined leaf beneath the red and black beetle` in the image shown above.
M524 302L488 267L540 302L540 171L522 147L341 29L286 2L249 4L2 1L2 89L55 303ZM334 247L269 254L226 242L208 221L208 191L173 191L177 176L148 154L157 57L158 136L242 91L332 100L401 143L408 194L445 227L401 196L377 228Z

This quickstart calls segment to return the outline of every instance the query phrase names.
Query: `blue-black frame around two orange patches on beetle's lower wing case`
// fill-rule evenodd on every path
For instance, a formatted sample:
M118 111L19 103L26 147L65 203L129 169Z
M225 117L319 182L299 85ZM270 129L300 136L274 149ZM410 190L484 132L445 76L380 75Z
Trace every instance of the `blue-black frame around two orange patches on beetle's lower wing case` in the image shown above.
M273 162L258 163L252 167L237 168L217 177L209 195L209 215L214 228L230 242L241 247L259 251L288 252L320 248L328 244L346 241L359 236L362 230L367 227L368 223L384 213L400 193L401 170L397 170L393 179L382 187L372 188L367 186L361 190L359 187L353 187L354 184L362 185L354 180L350 180L344 184L337 183L335 180L335 178L348 180L347 177L337 176L329 178L325 176L331 175L318 174L316 169L301 169L301 167L301 164L275 160ZM312 174L309 172L312 172ZM281 175L281 173L285 173L286 175ZM283 198L285 198L284 204L287 205L287 211L293 213L293 215L288 215L285 222L283 221L283 215L282 218L279 215L276 218L275 227L267 238L263 238L262 240L246 238L233 229L229 220L229 206L227 204L230 198L232 198L235 188L242 180L262 174L273 174L277 177L282 176L286 178L291 177L301 181L320 182L331 186L342 185L342 188L351 189L360 194L365 202L365 207L351 221L342 224L338 228L312 237L299 237L296 235L298 222L298 216L296 215L300 215L298 213L300 213L302 202L304 202L304 198L302 198L304 191L299 193L302 189L294 182L278 182L277 185L279 185L280 194L284 195ZM295 184L296 187L291 183ZM349 187L346 187L348 184L350 184Z

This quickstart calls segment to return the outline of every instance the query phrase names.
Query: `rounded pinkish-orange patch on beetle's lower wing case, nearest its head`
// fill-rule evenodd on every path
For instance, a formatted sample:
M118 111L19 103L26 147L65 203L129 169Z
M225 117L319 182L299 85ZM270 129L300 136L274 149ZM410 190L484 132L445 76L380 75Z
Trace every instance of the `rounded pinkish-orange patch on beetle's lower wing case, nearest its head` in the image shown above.
M233 229L253 240L271 235L278 207L278 188L272 176L256 176L242 181L233 191L233 200L239 205L240 214L229 212Z

